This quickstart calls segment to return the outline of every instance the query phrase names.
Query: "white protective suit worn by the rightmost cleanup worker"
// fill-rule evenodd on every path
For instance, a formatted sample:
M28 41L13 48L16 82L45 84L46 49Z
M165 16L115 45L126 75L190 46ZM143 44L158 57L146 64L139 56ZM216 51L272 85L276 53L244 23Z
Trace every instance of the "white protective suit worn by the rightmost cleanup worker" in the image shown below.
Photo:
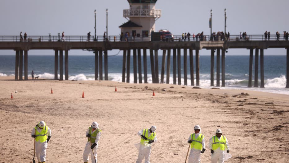
M220 141L219 137L216 137L216 138L218 138L218 140ZM213 147L213 137L211 137L211 139L209 141L209 149L210 150L213 149L212 147ZM227 151L226 148L228 150L230 149L227 138L226 138L226 144L225 144L225 151ZM220 147L217 148L216 150L214 150L214 153L213 154L211 153L211 162L217 163L219 161L219 163L224 163L225 151L220 150Z

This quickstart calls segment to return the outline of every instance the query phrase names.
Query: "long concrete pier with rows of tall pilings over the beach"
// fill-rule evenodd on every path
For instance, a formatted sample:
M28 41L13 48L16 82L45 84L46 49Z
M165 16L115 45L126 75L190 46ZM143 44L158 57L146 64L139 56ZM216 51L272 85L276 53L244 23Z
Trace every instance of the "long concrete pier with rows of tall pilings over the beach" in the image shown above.
M97 36L101 37L101 36ZM239 40L238 35L231 35L231 40L225 41L179 41L180 36L176 36L174 41L120 41L119 36L108 36L107 41L89 42L86 36L65 36L65 41L61 42L57 36L29 36L28 40L20 40L19 36L0 36L0 49L10 49L16 52L15 55L15 80L23 80L23 58L24 58L24 80L28 80L28 52L32 49L51 49L54 50L54 79L58 80L58 71L60 80L63 80L63 59L64 59L64 80L68 80L68 57L69 51L73 49L88 49L95 54L95 80L108 80L108 50L119 49L123 51L122 65L122 82L130 81L130 59L131 51L133 55L133 82L142 83L142 68L144 69L144 83L147 83L147 52L150 55L151 72L153 83L164 83L164 73L166 72L169 84L170 77L170 60L172 51L173 61L173 84L181 84L181 76L184 77L184 85L187 83L187 55L189 51L189 67L191 86L194 86L194 69L193 61L195 61L196 86L199 86L199 55L202 50L211 50L211 86L214 86L214 59L216 54L216 86L225 86L225 54L228 49L250 49L249 57L249 77L248 87L252 86L252 64L253 54L255 51L255 72L254 72L254 87L258 86L258 61L260 58L260 87L264 88L264 49L269 48L284 48L287 49L287 68L286 88L289 88L289 41L276 41L276 38L271 37L270 41L265 41L264 35L249 35L247 40ZM209 38L205 36L204 38ZM236 39L235 39L236 38ZM274 40L275 39L275 40ZM94 40L94 39L92 39ZM101 39L98 39L101 40ZM158 50L162 50L161 74L158 70ZM143 59L141 59L141 50L143 51ZM184 54L184 74L181 74L180 54ZM259 53L260 51L260 53ZM24 57L23 57L24 52ZM64 58L63 58L64 52ZM220 53L221 52L221 53ZM195 53L195 59L193 59ZM104 54L104 55L103 55ZM259 57L260 54L260 57ZM102 65L104 59L104 67ZM166 62L167 60L167 62ZM142 67L143 63L143 67ZM167 65L165 65L167 63ZM59 65L59 66L58 66ZM220 71L221 68L221 71ZM58 70L59 69L59 70ZM19 70L19 71L18 71ZM177 74L176 74L177 73ZM221 76L220 76L221 73ZM284 72L285 73L285 72ZM138 75L138 77L137 77ZM160 78L159 78L160 77ZM221 78L220 78L221 77ZM176 82L178 81L178 82Z

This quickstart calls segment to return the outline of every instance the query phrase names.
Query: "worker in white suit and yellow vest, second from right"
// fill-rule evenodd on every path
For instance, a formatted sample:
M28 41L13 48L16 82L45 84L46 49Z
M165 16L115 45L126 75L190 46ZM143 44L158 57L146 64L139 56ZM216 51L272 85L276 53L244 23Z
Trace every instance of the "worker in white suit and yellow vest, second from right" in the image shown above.
M188 139L188 143L191 144L189 163L200 163L201 153L206 151L205 136L201 133L201 127L199 125L195 125L194 131L195 133L192 133Z

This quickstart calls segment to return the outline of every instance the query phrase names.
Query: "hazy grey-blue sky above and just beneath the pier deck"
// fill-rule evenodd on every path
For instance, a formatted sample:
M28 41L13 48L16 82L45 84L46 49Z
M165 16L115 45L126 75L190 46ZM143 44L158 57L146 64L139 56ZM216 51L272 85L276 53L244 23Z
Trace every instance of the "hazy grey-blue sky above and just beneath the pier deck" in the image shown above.
M227 10L227 28L230 35L240 32L274 35L289 31L289 0L158 0L156 9L162 10L156 21L156 30L167 29L174 35L183 32L210 34L209 18L212 9L212 31L224 31L224 9ZM106 31L106 8L108 34L120 34L118 26L127 22L123 10L129 9L127 0L1 0L0 36L19 35L94 35L94 10L96 9L96 35ZM281 37L282 38L282 37ZM113 50L109 52L117 53ZM32 55L54 55L53 50L30 50ZM200 55L209 55L209 50ZM247 49L229 49L227 55L249 55ZM264 55L285 55L285 49L266 49ZM15 55L13 50L1 50L0 55ZM70 50L69 55L93 55L92 52Z

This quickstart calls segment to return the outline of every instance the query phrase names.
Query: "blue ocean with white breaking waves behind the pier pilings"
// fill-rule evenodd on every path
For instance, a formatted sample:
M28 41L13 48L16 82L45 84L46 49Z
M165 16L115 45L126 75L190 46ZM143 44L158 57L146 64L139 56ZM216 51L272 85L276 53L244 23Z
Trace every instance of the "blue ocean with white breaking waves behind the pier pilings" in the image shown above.
M162 55L158 57L159 66L159 79L161 76L161 62ZM188 58L188 85L190 86L190 68L189 68L189 56ZM264 56L264 79L265 88L248 88L248 73L249 73L249 56L248 55L227 55L225 57L225 87L222 89L245 89L255 91L265 91L272 93L288 94L289 89L285 89L286 86L286 56L285 55L265 55ZM252 71L252 85L254 85L254 61L253 57L253 71ZM63 59L64 60L64 59ZM142 58L143 61L143 58ZM194 79L195 78L195 56L194 61ZM210 86L210 56L200 56L200 87L211 88ZM133 59L131 54L131 69L130 69L130 83L133 83ZM167 62L167 61L166 61ZM170 83L173 83L173 65L171 54L171 75ZM104 63L103 63L104 65ZM150 58L147 56L148 67L148 82L152 83L151 70L150 70ZM214 85L216 86L216 56L214 64ZM24 70L24 68L23 68ZM51 56L37 56L28 55L28 74L31 77L31 71L34 70L35 75L40 79L54 79L54 55ZM103 68L104 71L104 68ZM143 74L142 63L142 75ZM221 71L221 70L220 70ZM59 69L58 69L59 72ZM119 55L113 55L108 57L108 76L111 81L122 81L122 53ZM183 56L181 56L181 84L184 84L184 70L183 70ZM24 73L23 73L24 75ZM0 55L0 76L15 76L15 55ZM221 76L221 74L220 74ZM64 78L64 77L63 77ZM259 61L259 86L260 86L260 61ZM104 79L104 73L103 73ZM94 56L69 56L69 80L94 80ZM166 82L166 70L164 76L164 82ZM196 81L194 81L196 84ZM144 77L143 77L144 83ZM221 84L221 81L220 81Z

